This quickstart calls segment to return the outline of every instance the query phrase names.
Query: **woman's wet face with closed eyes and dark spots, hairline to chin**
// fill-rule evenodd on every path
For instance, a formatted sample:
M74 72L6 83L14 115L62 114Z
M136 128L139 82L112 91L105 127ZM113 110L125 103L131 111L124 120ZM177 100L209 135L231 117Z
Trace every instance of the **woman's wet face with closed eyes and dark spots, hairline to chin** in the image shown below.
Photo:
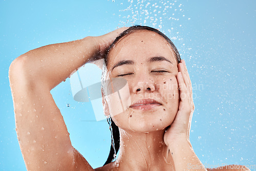
M108 55L110 87L119 82L114 78L127 81L106 97L116 125L144 133L170 125L178 112L179 90L177 60L168 42L153 31L139 30L119 40Z

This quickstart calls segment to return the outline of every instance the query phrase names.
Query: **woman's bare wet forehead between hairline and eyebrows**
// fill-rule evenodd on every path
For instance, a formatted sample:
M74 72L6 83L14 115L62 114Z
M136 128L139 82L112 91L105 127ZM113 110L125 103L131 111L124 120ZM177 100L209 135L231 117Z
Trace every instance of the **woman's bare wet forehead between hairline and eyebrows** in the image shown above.
M109 63L117 60L127 58L141 60L154 55L170 57L174 59L173 61L176 60L173 48L164 37L153 31L137 30L116 42L108 54L108 66Z

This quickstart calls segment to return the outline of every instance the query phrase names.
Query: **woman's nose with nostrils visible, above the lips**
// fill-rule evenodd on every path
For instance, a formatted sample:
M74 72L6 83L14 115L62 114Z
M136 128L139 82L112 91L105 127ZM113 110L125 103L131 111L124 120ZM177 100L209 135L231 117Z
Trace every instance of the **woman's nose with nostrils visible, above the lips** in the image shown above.
M137 81L136 79L134 81L133 93L135 94L140 92L154 92L156 90L154 81L146 75L138 77Z

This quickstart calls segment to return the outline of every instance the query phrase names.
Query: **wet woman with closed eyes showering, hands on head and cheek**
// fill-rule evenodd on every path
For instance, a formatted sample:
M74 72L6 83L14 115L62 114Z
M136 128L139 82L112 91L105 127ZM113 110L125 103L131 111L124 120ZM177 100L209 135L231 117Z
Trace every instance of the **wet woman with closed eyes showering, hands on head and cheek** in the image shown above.
M126 29L41 47L12 62L16 132L28 170L93 170L72 146L50 90L101 58L104 79L110 80L102 89L103 106L119 127L120 154L95 170L206 170L189 142L194 103L184 60L158 30ZM118 84L115 78L128 84L121 97L109 93Z

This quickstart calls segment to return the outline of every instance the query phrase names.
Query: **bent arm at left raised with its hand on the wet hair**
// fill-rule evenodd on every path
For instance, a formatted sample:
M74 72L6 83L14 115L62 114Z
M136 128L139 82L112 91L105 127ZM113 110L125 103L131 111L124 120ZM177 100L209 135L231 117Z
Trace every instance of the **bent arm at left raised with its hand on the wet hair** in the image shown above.
M50 90L86 62L103 57L123 30L41 47L11 63L16 132L28 170L93 170L73 148Z

